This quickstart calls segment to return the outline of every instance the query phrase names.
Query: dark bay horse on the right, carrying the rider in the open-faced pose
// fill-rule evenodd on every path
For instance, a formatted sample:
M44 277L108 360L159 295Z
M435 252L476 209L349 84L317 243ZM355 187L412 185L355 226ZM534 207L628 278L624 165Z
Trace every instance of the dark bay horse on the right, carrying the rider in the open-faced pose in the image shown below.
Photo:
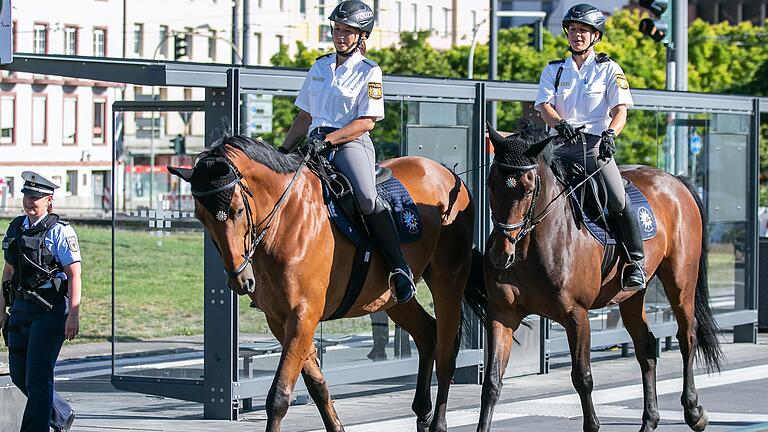
M607 275L601 276L603 246L584 225L577 228L568 189L558 177L562 165L554 151L555 142L541 128L524 122L518 133L505 138L489 126L489 135L495 153L487 179L494 228L483 262L485 286L470 285L466 293L485 321L488 338L477 430L490 430L513 332L527 315L538 314L565 328L583 430L597 431L600 423L591 397L588 311L616 303L642 371L640 430L654 430L659 422L657 341L646 319L645 290L621 291L623 258L613 261ZM644 244L645 270L649 278L656 275L663 283L677 320L685 421L695 431L704 430L708 416L699 405L694 385L694 354L698 351L710 372L719 370L723 354L708 299L702 203L683 177L647 166L624 166L621 171L644 193L655 212L657 234ZM486 291L471 291L476 289Z

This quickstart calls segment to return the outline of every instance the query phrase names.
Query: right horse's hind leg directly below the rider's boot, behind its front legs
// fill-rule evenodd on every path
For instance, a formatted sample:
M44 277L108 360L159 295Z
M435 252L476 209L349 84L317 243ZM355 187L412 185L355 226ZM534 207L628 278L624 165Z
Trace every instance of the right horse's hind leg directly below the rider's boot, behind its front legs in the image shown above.
M621 320L635 345L635 356L643 374L643 427L640 432L656 430L659 406L656 398L656 337L645 316L645 291L619 303Z

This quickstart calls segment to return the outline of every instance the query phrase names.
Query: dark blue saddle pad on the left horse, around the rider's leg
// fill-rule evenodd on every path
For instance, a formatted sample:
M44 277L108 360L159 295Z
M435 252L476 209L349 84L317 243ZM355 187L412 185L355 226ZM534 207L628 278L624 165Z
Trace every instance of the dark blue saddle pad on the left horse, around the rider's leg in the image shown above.
M325 188L324 188L325 189ZM405 189L405 186L396 177L390 177L383 183L376 185L379 196L389 202L392 209L392 218L397 226L397 235L400 243L410 243L421 238L421 216L416 208L416 203ZM360 243L361 233L344 214L338 204L324 190L325 203L333 223L356 245ZM362 235L365 235L364 233Z

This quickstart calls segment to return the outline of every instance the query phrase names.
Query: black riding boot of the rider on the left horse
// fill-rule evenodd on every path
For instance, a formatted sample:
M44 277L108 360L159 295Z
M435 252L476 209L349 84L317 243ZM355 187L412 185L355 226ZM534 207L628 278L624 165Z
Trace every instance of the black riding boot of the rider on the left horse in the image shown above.
M400 249L400 239L397 237L395 221L387 205L380 199L376 199L376 207L373 213L365 216L368 227L374 240L384 252L384 257L389 263L391 273L388 283L394 282L395 297L398 303L405 303L416 294L416 284L413 282L413 273L408 267Z

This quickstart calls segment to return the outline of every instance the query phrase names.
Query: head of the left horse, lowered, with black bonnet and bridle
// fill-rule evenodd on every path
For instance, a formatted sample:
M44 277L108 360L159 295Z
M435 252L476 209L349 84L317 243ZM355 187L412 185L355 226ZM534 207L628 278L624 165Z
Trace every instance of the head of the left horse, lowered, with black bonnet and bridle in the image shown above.
M260 238L255 232L253 194L227 152L225 144L251 141L232 136L201 153L193 168L168 167L192 185L195 217L211 236L227 271L227 284L238 295L251 294L256 280L251 265ZM242 144L242 143L240 143Z

